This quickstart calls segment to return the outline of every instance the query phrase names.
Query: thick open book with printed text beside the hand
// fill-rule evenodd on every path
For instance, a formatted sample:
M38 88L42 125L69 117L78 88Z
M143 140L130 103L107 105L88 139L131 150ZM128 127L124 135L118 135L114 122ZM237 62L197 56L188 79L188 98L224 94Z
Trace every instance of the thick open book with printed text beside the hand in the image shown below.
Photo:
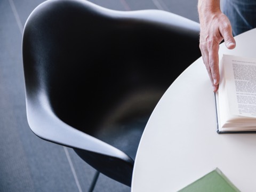
M256 58L223 54L215 101L218 133L256 132Z

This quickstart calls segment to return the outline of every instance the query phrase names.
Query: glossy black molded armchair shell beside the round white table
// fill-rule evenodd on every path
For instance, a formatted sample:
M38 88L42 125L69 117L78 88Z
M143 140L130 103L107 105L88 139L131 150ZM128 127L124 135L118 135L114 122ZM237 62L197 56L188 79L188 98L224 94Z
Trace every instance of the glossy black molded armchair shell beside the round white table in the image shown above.
M22 40L31 130L131 186L143 129L175 78L201 57L198 36L199 23L170 12L42 3Z

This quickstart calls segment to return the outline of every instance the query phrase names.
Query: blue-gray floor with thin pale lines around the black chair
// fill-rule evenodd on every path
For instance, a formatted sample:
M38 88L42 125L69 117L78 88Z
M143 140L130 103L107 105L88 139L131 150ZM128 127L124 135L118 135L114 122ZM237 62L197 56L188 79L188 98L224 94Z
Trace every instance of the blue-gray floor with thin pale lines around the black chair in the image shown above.
M37 138L26 119L22 31L43 0L0 0L0 192L87 191L95 170L72 149ZM161 9L198 22L197 0L91 0L130 11ZM100 174L97 191L130 191Z

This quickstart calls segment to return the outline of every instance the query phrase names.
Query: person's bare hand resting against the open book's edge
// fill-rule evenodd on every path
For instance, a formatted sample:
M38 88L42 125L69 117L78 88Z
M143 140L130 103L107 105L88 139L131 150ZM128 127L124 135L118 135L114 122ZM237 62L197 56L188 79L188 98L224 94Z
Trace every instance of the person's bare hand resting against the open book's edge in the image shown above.
M230 21L220 10L199 14L199 20L201 26L199 48L213 91L217 92L220 81L219 44L224 40L228 49L234 49L236 42Z

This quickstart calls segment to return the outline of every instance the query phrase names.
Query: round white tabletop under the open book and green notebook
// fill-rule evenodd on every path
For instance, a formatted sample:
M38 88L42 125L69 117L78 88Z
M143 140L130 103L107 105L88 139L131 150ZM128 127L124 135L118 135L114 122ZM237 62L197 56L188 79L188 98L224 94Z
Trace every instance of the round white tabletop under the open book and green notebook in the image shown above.
M256 29L235 39L234 50L221 44L220 58L256 58ZM256 134L217 133L214 93L199 58L153 111L135 158L131 191L178 191L215 167L242 192L256 191Z

